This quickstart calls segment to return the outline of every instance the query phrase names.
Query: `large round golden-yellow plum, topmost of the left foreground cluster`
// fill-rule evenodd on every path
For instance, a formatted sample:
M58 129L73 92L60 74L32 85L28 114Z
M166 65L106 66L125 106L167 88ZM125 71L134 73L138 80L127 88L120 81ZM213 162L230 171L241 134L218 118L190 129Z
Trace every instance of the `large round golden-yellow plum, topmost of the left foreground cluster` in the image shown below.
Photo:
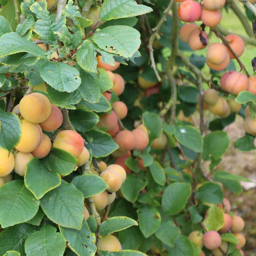
M39 92L24 96L20 101L20 114L30 123L42 123L51 113L51 102Z

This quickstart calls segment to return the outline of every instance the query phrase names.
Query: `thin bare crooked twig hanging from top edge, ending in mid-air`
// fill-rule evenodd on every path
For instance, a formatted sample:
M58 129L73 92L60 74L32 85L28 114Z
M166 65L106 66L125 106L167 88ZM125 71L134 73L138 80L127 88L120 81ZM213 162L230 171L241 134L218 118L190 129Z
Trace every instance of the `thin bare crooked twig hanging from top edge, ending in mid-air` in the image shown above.
M161 18L161 20L158 22L157 26L154 27L154 29L152 29L152 31L154 32L151 37L149 38L149 42L148 42L148 49L149 49L149 56L150 56L150 60L151 60L151 67L154 69L155 71L155 74L157 76L157 79L158 81L160 82L161 81L161 77L158 73L158 70L157 70L157 66L155 65L155 59L154 59L154 49L153 49L153 43L154 43L154 40L157 38L159 39L160 38L160 35L158 34L159 33L159 30L161 29L161 26L163 25L164 21L166 21L166 17L171 9L171 7L173 6L174 4L174 0L171 0L170 1L170 4L168 5L168 7L166 8L166 10L164 10L164 15L163 17Z

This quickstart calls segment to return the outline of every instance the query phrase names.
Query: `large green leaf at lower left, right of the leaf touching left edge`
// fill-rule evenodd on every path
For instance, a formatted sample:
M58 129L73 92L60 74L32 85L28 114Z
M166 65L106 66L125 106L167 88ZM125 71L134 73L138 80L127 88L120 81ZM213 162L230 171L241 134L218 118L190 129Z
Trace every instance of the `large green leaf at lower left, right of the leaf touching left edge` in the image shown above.
M54 223L71 229L81 229L84 205L83 194L73 184L61 180L58 188L52 189L40 199L43 212Z

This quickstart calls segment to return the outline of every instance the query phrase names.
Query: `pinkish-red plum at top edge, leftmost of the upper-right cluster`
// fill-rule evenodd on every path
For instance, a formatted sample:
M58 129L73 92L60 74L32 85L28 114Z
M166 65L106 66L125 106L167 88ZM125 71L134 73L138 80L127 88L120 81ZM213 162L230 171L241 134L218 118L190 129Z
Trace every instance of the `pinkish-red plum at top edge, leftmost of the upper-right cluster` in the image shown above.
M183 1L178 7L178 16L185 22L194 22L201 15L201 5L192 0Z

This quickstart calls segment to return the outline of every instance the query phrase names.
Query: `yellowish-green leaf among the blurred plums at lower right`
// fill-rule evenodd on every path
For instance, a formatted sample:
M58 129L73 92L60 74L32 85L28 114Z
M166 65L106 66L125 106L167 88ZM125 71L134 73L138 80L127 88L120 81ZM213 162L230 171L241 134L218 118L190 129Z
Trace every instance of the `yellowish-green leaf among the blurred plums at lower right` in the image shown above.
M205 229L208 231L215 230L218 231L224 225L224 213L220 207L216 205L211 205L207 210L207 217L203 221Z

